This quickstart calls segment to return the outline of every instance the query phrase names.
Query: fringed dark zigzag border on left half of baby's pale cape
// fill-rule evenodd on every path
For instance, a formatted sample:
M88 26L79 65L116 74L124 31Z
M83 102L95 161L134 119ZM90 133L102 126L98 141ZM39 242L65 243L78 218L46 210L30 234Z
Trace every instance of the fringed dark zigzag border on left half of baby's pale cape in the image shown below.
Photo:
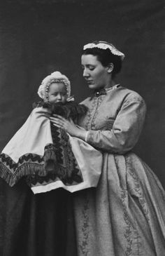
M45 147L44 156L24 154L20 157L18 163L15 163L10 156L0 154L0 177L6 180L10 187L13 187L24 176L46 176L48 171L50 172L49 158L54 163L51 171L57 174L57 168L59 169L59 167L56 161L55 147L52 144Z

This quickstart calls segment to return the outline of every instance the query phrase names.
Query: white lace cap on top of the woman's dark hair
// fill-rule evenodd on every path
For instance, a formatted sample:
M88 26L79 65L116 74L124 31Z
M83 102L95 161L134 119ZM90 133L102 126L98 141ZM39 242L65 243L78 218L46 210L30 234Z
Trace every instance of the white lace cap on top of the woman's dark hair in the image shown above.
M115 46L113 46L113 44L107 43L105 41L98 41L98 42L94 42L94 43L87 43L83 47L83 50L91 49L91 48L99 48L99 49L103 49L103 50L109 49L112 54L120 56L120 58L122 60L125 57L124 53L120 52L120 50L117 50L117 48L115 48Z

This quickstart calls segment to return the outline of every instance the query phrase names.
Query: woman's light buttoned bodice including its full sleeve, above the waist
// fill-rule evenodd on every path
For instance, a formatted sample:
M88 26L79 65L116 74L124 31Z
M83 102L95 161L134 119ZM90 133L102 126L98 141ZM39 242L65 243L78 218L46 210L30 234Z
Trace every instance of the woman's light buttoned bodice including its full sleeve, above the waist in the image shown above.
M120 86L82 104L88 111L78 125L89 131L89 144L120 154L134 147L145 119L145 102L138 93Z

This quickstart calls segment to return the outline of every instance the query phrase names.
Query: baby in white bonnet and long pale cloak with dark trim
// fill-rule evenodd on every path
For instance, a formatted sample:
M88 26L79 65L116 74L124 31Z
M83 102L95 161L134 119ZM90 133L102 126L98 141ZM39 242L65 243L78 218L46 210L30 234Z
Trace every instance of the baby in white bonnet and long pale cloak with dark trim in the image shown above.
M53 72L43 79L38 95L42 100L1 152L0 176L11 187L25 177L34 194L59 187L71 192L96 187L101 153L50 122L52 114L59 114L76 123L87 111L71 97L69 79Z

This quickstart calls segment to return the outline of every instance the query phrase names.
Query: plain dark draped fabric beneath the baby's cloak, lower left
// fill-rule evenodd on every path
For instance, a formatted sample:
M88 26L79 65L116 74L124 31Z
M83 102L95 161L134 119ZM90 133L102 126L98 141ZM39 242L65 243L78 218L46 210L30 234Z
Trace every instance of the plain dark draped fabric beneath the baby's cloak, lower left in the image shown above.
M34 195L20 181L0 180L1 256L76 256L71 193L56 189Z

